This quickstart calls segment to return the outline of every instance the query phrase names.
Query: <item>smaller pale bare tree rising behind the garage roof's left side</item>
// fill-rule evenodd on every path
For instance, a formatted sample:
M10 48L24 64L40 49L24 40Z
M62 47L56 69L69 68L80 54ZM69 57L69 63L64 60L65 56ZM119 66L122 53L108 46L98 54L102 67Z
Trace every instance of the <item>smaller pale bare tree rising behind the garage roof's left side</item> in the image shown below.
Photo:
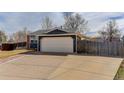
M50 19L50 17L46 16L42 19L41 27L42 29L53 28L53 21Z

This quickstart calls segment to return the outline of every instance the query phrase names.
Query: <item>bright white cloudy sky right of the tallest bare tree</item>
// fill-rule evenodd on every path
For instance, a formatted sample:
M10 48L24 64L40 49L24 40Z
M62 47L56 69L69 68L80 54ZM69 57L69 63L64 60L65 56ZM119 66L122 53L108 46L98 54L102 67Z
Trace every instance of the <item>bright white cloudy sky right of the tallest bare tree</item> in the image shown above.
M90 28L90 33L96 34L97 31L100 30L106 22L111 18L111 17L118 17L118 16L124 16L124 13L121 12L85 12L85 13L80 13L85 19L88 20L89 22L89 28ZM122 19L117 19L117 23L119 25L120 29L124 28L124 18ZM90 34L90 35L92 35Z

